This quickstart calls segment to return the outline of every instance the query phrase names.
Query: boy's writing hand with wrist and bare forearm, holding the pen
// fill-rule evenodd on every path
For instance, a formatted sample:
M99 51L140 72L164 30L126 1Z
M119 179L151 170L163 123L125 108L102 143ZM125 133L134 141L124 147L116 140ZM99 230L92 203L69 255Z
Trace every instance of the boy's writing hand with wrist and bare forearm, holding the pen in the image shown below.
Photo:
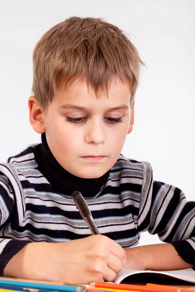
M36 280L72 284L114 281L126 262L125 250L103 235L92 235L63 243L29 243L8 263L5 274ZM21 266L12 266L20 256ZM22 257L22 261L21 261ZM19 261L18 261L19 262ZM20 272L19 272L20 271Z

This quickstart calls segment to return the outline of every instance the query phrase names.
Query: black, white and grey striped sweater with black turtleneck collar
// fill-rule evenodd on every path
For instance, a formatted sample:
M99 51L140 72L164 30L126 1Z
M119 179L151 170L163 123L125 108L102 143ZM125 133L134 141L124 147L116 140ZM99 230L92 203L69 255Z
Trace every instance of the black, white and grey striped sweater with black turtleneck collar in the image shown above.
M137 245L140 232L148 231L195 264L195 202L177 187L155 181L149 163L121 154L103 178L91 180L66 175L60 167L45 140L0 163L0 275L28 242L64 242L91 234L71 197L75 189L83 191L99 232L123 248Z

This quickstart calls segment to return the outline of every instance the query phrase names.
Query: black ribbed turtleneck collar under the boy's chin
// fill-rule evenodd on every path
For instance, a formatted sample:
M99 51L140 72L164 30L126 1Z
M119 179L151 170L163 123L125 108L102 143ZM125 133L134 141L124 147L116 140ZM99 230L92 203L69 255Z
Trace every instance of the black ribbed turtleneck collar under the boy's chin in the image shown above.
M45 133L41 134L41 142L35 146L35 159L40 172L49 183L61 194L71 195L78 190L83 197L94 197L106 183L110 170L98 179L83 179L65 170L55 159L46 140Z

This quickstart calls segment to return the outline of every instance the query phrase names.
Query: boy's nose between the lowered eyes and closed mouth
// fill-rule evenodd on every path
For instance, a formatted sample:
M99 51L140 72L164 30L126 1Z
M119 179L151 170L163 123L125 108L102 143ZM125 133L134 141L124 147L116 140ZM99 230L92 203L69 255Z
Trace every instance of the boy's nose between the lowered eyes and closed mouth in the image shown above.
M98 119L93 122L91 121L90 126L86 129L85 142L98 145L104 143L105 138L104 125Z

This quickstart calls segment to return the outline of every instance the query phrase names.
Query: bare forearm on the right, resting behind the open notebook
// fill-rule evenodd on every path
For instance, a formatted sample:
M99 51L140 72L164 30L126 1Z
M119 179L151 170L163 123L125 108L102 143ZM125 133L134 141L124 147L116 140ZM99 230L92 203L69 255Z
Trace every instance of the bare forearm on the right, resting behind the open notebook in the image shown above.
M137 246L125 251L124 269L170 271L194 267L178 255L171 243Z

